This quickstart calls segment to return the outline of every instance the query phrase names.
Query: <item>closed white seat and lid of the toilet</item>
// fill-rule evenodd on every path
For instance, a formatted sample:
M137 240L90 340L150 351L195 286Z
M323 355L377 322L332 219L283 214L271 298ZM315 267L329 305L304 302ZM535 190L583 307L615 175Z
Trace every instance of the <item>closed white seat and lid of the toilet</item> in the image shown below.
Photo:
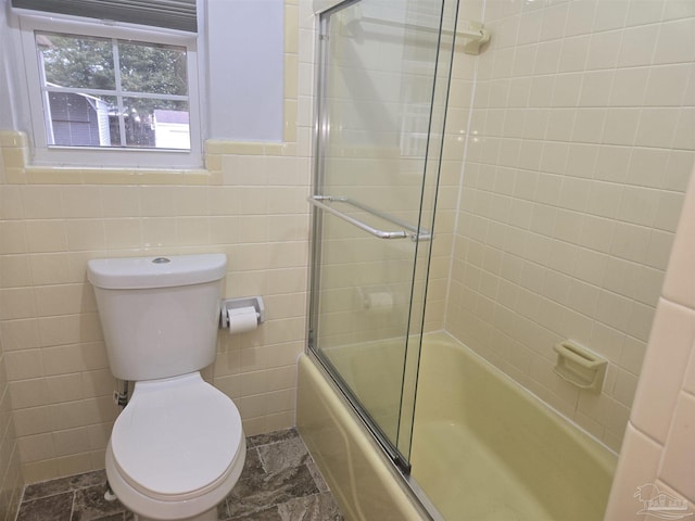
M237 470L241 417L199 372L137 382L111 435L113 462L144 496L190 500Z

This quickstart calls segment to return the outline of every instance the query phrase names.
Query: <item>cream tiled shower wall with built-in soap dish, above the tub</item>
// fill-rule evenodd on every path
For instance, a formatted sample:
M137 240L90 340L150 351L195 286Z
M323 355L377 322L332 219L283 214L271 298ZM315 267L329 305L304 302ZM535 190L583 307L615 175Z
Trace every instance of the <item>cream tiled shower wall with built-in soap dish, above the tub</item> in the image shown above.
M462 3L492 41L456 56L446 329L616 450L693 165L694 5ZM567 338L609 360L603 394L554 374Z

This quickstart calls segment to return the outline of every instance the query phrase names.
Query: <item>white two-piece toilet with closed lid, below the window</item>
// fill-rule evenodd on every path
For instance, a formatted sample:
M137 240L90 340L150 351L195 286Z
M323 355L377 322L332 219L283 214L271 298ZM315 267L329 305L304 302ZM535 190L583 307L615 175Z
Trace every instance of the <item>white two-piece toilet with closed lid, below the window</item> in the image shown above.
M217 519L245 458L233 402L200 370L215 359L224 254L89 260L111 372L135 382L106 475L141 521Z

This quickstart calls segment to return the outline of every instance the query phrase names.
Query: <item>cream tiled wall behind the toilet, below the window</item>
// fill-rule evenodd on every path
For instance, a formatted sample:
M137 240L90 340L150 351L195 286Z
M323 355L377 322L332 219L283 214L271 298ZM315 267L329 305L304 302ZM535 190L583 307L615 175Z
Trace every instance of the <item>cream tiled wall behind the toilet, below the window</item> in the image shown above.
M248 435L293 425L305 343L312 24L311 5L286 2L282 143L208 141L201 170L65 169L28 165L25 138L0 132L3 387L27 483L103 468L117 409L89 258L226 253L225 296L263 295L267 321L222 332L205 376L235 399Z

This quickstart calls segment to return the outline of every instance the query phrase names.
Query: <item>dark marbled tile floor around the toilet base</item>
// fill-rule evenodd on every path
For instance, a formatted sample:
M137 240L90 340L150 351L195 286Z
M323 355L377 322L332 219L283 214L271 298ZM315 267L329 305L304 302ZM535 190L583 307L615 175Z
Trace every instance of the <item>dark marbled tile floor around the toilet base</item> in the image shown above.
M104 500L103 470L29 485L17 521L135 521ZM342 521L326 482L294 429L247 439L239 482L217 508L220 521Z

